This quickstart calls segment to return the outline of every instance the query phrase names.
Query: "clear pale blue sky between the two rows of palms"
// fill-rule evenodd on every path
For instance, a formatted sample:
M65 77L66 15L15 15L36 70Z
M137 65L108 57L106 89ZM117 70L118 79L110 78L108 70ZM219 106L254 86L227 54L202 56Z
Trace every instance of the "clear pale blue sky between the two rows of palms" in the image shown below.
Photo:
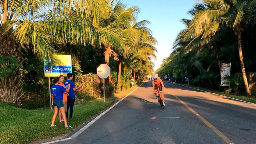
M158 41L157 60L153 60L156 71L163 58L170 55L179 31L185 28L180 19L191 19L187 11L193 7L195 0L122 0L122 3L128 5L127 7L140 8L137 21L147 19L151 22L148 28L153 31L154 38Z

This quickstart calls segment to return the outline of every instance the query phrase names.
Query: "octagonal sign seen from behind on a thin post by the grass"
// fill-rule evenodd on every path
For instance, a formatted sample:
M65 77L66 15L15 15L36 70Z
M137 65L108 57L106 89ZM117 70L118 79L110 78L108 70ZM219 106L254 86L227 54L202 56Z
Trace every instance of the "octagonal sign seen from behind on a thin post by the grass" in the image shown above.
M110 67L107 64L101 64L97 67L97 75L103 79L103 99L105 102L105 79L110 75Z

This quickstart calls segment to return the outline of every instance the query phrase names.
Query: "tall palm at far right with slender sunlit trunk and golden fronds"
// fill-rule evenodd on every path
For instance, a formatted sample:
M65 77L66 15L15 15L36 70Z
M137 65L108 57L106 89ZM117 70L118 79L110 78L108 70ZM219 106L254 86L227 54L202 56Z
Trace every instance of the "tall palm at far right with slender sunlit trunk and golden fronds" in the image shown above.
M204 4L207 8L196 13L189 24L190 33L195 38L202 36L201 39L203 39L215 35L225 25L234 29L237 35L239 59L246 93L248 96L251 95L243 63L241 31L243 24L256 22L256 1L204 0Z

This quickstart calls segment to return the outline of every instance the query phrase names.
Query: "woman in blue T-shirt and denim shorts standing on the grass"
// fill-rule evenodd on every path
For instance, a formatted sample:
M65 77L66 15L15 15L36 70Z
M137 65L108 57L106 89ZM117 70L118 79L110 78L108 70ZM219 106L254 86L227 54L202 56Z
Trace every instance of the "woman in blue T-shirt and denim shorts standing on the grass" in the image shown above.
M66 89L63 86L58 85L59 80L60 80L59 77L54 77L54 79L53 79L54 85L51 86L51 100L52 100L52 105L54 106L54 115L52 117L51 127L56 127L56 125L54 125L54 122L55 122L56 117L60 111L61 114L63 115L63 120L64 120L66 129L70 129L72 127L70 125L67 125L65 107L63 104L63 93L69 92L70 84L68 85L68 88Z

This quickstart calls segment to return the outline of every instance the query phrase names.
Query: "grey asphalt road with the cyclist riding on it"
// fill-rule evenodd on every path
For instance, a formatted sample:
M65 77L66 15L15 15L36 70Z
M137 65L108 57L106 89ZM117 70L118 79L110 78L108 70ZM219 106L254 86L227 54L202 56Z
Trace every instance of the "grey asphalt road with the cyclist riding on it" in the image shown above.
M76 138L58 143L256 143L255 104L164 85L164 110L148 81Z

